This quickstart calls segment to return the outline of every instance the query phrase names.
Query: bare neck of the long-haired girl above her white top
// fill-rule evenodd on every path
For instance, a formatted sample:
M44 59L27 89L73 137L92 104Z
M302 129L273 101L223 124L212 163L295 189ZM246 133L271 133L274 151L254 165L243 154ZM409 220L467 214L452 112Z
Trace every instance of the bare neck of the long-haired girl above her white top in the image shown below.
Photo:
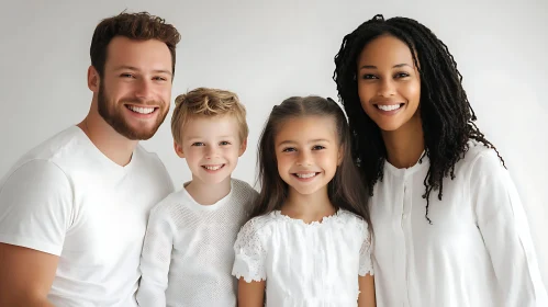
M288 200L281 206L281 214L310 224L334 215L335 207L329 201L327 186L312 194L301 194L290 186Z

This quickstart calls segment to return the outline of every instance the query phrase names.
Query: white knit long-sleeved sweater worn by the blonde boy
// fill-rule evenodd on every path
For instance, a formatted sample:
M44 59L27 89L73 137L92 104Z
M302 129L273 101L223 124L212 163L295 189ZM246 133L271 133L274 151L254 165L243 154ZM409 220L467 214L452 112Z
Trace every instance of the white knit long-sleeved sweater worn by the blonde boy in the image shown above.
M257 196L249 184L232 179L228 195L213 205L200 205L182 189L155 206L141 259L138 305L235 307L233 246Z

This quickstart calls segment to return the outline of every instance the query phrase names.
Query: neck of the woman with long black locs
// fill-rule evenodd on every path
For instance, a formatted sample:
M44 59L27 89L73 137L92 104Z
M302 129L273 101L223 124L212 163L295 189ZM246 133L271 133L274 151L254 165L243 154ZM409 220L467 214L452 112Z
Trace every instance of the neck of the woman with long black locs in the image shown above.
M399 169L411 168L424 152L424 133L418 111L407 123L393 132L382 132L387 160Z

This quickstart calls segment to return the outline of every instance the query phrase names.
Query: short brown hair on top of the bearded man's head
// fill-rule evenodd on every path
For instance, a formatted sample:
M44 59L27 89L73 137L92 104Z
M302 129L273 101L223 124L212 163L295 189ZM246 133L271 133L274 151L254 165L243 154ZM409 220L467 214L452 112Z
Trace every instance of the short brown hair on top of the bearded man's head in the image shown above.
M102 20L97 25L93 38L91 38L91 65L99 72L99 77L103 77L107 47L115 36L136 41L158 39L165 43L171 54L171 72L175 75L175 47L181 39L177 29L167 24L164 19L147 12L122 12L119 15Z

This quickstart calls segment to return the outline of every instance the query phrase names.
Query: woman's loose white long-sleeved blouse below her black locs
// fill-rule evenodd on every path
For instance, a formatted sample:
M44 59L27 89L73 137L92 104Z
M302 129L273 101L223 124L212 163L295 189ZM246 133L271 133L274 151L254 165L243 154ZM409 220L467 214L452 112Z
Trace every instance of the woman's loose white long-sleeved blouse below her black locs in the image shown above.
M373 189L377 306L548 306L522 203L496 152L470 141L429 197L429 160L384 164Z

